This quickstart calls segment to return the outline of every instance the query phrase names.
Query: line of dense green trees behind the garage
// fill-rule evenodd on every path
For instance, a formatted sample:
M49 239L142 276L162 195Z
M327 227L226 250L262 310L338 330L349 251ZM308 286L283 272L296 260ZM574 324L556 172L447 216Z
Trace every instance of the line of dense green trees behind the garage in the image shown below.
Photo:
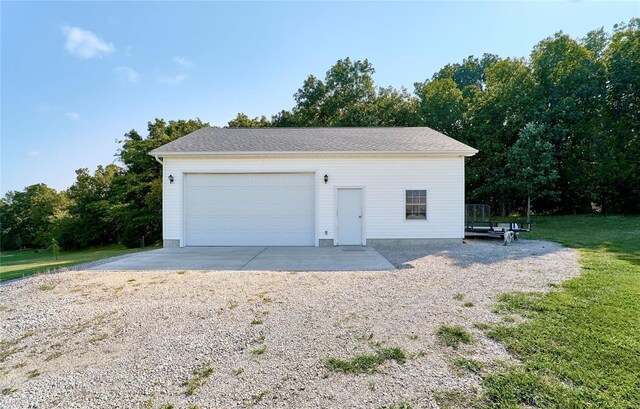
M376 86L368 60L309 75L295 105L239 113L228 127L428 126L479 149L466 166L467 202L499 213L640 213L640 19L584 38L562 32L529 58L470 56L404 88ZM161 165L147 152L210 126L148 123L124 135L118 164L57 192L45 184L0 200L2 248L153 243L162 234Z

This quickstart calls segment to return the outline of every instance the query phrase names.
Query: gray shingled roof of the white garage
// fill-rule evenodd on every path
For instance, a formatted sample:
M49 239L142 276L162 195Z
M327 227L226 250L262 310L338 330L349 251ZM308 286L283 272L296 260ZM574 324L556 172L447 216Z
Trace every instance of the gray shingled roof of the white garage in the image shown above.
M277 152L403 152L473 155L477 151L431 128L202 128L151 155Z

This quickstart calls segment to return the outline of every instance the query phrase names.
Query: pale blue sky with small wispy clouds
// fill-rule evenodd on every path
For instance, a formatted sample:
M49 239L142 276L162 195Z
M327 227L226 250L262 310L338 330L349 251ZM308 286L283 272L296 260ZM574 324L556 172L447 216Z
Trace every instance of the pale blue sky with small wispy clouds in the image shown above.
M640 2L1 3L0 190L64 189L156 117L225 125L293 105L309 74L368 58L405 86L489 52L528 56L559 30L640 16Z

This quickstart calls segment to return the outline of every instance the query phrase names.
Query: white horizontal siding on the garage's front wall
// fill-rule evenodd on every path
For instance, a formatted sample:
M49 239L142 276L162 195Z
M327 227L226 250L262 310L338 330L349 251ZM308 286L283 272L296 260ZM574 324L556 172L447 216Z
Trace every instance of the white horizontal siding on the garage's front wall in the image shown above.
M315 172L318 239L333 239L336 188L362 187L367 239L464 237L464 158L164 158L163 235L184 244L184 173ZM329 176L327 184L322 180ZM168 176L174 183L169 184ZM427 220L405 220L405 189L427 190ZM325 231L327 234L325 234Z

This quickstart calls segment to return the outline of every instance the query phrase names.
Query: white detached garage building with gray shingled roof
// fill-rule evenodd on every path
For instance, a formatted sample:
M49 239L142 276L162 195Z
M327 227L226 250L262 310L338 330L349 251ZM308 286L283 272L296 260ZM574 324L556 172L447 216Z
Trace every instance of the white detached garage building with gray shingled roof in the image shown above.
M460 242L475 153L430 128L203 128L150 152L165 247Z

